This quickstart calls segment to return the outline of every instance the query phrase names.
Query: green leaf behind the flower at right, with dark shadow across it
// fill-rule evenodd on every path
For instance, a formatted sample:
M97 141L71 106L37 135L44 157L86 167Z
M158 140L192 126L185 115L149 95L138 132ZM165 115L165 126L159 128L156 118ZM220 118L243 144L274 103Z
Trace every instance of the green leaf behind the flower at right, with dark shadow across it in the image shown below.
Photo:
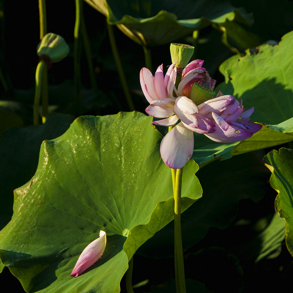
M192 158L199 165L293 140L292 48L290 32L279 45L262 45L257 54L247 50L246 56L235 55L221 64L219 69L226 84L214 91L241 97L246 109L254 107L250 122L265 125L251 138L232 144L215 143L196 134Z

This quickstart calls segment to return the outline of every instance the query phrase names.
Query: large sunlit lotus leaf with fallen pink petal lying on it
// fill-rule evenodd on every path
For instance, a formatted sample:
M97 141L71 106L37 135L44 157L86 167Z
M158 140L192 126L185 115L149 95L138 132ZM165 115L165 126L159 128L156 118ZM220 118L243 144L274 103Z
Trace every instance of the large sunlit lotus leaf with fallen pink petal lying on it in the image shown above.
M35 176L15 191L1 231L1 261L26 291L119 292L135 250L173 219L171 171L151 120L138 112L83 116L43 142ZM184 168L182 211L202 194L197 170L193 160ZM100 230L102 259L70 277Z

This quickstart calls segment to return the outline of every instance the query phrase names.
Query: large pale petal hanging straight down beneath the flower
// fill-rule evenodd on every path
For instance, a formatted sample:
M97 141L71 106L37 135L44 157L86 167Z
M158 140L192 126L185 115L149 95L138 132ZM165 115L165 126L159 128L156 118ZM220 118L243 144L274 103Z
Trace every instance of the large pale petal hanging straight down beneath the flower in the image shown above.
M191 158L193 145L193 132L180 122L163 138L160 146L161 157L170 168L180 169Z

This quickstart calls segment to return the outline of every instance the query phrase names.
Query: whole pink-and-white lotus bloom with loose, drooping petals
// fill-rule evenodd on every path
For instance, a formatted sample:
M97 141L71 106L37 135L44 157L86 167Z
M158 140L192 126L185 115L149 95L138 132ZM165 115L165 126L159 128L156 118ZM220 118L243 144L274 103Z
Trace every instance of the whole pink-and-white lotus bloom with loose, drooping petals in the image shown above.
M215 80L201 67L202 60L190 62L183 69L178 89L175 87L175 64L169 67L165 77L163 64L158 67L155 76L147 68L140 71L142 91L150 103L146 112L156 118L165 118L153 123L172 126L181 120L161 142L161 157L167 166L179 169L191 158L193 132L205 134L216 142L227 143L247 139L260 130L261 125L248 123L254 108L243 112L241 100L239 103L233 96L224 96L221 92L209 100L195 94L198 84L210 90L215 86Z

